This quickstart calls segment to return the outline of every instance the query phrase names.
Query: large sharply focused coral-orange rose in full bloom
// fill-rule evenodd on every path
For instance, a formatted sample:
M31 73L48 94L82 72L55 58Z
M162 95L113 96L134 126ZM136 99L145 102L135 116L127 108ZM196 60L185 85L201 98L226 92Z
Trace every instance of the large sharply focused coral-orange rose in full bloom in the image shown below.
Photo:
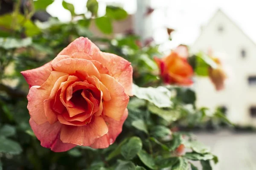
M29 84L29 123L43 147L105 148L128 116L131 63L80 37L51 62L21 72Z

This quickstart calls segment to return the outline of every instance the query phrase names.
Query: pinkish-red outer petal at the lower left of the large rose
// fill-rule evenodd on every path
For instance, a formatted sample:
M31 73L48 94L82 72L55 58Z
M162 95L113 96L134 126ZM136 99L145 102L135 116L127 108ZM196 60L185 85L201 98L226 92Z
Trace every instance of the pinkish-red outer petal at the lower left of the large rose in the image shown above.
M50 148L54 152L64 152L76 146L75 144L61 142L61 124L59 122L52 125L48 122L37 125L32 119L29 119L29 124L43 147Z

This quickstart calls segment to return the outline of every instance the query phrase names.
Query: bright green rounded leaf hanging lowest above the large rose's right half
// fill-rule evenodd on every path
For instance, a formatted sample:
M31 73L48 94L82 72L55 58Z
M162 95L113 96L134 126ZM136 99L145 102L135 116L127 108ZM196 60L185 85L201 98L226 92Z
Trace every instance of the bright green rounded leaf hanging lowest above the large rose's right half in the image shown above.
M95 24L104 34L111 34L113 31L111 20L108 17L96 18Z

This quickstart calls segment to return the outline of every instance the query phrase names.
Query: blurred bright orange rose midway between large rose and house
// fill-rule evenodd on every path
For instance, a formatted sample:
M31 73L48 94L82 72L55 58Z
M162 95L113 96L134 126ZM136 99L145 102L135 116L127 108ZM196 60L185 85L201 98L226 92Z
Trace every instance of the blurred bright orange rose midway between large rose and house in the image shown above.
M169 56L163 59L155 57L154 60L160 69L163 82L177 85L191 85L193 83L191 80L193 75L192 67L177 52L172 51Z

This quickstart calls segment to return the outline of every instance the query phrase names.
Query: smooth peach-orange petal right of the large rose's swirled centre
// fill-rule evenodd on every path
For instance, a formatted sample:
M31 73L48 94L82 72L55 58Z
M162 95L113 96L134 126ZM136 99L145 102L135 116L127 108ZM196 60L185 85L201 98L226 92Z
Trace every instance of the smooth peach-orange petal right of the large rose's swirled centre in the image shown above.
M109 116L119 121L127 108L129 96L125 94L122 85L108 74L101 74L101 82L109 89L110 101L103 102L103 111Z

